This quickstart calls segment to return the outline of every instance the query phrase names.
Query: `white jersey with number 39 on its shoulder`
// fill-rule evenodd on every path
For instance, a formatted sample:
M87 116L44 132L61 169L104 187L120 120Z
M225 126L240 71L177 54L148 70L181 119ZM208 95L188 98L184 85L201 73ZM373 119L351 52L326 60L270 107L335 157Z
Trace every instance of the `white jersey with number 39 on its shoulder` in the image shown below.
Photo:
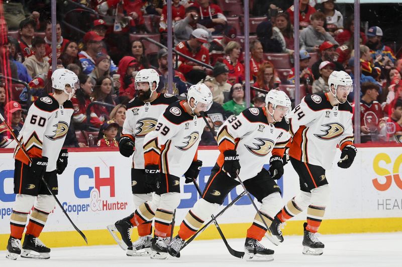
M201 116L189 115L185 101L168 106L159 117L156 128L144 139L145 165L160 164L163 173L181 177L196 159L204 127Z

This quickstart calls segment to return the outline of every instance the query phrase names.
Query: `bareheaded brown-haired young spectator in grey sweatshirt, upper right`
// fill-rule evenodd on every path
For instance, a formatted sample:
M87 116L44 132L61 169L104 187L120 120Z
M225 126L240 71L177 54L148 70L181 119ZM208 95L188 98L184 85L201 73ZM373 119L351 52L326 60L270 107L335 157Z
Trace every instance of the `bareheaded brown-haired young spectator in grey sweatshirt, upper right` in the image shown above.
M335 39L325 31L325 15L322 12L316 12L311 17L311 25L300 32L301 49L307 52L318 52L320 45L325 41L330 41L338 45Z

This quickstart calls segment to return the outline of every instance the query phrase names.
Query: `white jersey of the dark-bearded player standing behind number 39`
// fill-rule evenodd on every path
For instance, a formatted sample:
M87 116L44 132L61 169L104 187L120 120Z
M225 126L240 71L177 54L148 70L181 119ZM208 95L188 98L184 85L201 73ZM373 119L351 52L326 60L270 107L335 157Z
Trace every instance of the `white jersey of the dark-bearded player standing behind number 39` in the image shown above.
M167 106L176 101L177 97L173 95L158 94L152 102L144 103L136 97L128 103L122 136L128 136L135 143L133 168L144 169L144 137L155 129L159 116Z

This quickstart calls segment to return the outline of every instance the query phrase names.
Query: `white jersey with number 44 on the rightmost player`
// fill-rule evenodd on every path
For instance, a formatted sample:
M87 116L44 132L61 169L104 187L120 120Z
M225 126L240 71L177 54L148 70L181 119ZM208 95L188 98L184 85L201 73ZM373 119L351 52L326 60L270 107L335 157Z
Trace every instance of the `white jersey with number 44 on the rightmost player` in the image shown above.
M302 162L332 168L336 146L353 144L352 106L332 106L329 93L306 96L289 116L293 135L289 155Z

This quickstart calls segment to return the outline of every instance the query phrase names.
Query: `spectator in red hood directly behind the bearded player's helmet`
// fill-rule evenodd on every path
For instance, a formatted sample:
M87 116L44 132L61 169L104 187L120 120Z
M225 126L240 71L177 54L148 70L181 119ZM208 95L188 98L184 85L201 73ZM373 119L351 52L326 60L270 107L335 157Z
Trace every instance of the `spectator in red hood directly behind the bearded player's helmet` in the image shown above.
M119 97L132 99L135 96L135 75L138 62L134 57L125 56L119 62L119 70L117 74L120 75L120 89ZM121 101L124 103L124 101Z

